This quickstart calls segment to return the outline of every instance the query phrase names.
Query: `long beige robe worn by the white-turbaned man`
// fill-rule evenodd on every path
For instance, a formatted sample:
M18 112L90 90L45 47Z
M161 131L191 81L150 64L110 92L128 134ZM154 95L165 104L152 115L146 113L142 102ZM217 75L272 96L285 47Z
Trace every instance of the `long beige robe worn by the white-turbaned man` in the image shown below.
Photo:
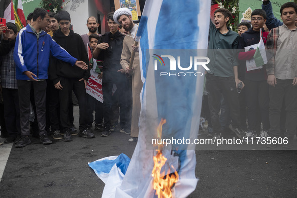
M121 66L123 69L129 67L130 57L132 53L132 45L134 40L130 34L125 36L123 40L123 50L121 54ZM139 54L135 53L135 58L133 61L133 73L132 73L132 118L131 118L131 137L138 137L139 127L139 115L140 115L140 92L143 86L141 81L140 65L139 65ZM130 74L131 75L131 74Z

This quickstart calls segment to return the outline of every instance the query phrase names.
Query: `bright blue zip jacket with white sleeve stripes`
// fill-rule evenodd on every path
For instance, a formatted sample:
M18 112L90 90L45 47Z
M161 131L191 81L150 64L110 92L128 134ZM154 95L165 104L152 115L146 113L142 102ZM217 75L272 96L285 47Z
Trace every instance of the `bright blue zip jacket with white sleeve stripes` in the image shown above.
M25 71L34 73L35 79L47 79L50 55L71 65L77 61L46 32L42 31L37 39L29 24L21 29L14 49L17 80L30 80Z

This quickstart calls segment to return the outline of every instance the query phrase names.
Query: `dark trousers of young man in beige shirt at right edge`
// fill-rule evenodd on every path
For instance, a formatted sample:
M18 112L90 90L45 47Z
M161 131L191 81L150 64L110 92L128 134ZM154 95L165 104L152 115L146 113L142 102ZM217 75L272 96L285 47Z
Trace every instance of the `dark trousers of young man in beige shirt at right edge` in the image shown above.
M285 136L293 136L296 133L297 127L297 86L293 86L293 80L276 79L275 87L269 86L270 97L270 130L269 134L272 137L281 137L280 131L280 115L283 100L285 101L286 121L285 121Z

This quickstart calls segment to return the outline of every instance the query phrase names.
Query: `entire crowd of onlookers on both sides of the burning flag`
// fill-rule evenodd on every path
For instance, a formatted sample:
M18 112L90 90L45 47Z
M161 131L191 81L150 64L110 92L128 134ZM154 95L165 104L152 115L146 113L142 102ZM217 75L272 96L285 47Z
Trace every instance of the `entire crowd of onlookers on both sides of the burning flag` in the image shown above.
M208 136L213 139L230 129L248 142L255 137L287 137L288 144L283 147L293 148L297 128L297 5L285 3L280 13L282 22L274 17L271 2L263 0L262 9L252 12L250 23L238 25L238 33L228 27L232 16L228 9L211 13L211 61L205 74L201 116L208 121ZM105 19L109 32L98 34L97 19L89 17L89 32L80 36L73 32L67 11L55 14L36 8L20 32L13 23L0 27L5 119L1 136L8 136L4 143L24 147L31 143L32 135L39 136L43 144L52 143L50 134L64 141L72 141L73 135L94 138L92 123L102 137L119 124L120 132L131 136L130 142L137 141L143 86L138 47L134 46L138 24L127 8L108 13ZM256 49L245 48L260 41L274 53L267 64L248 70L246 63L254 58ZM94 69L88 45L98 66L98 79L102 79L103 103L86 93L90 69ZM73 125L72 92L79 104L79 130ZM275 148L277 144L266 146Z

